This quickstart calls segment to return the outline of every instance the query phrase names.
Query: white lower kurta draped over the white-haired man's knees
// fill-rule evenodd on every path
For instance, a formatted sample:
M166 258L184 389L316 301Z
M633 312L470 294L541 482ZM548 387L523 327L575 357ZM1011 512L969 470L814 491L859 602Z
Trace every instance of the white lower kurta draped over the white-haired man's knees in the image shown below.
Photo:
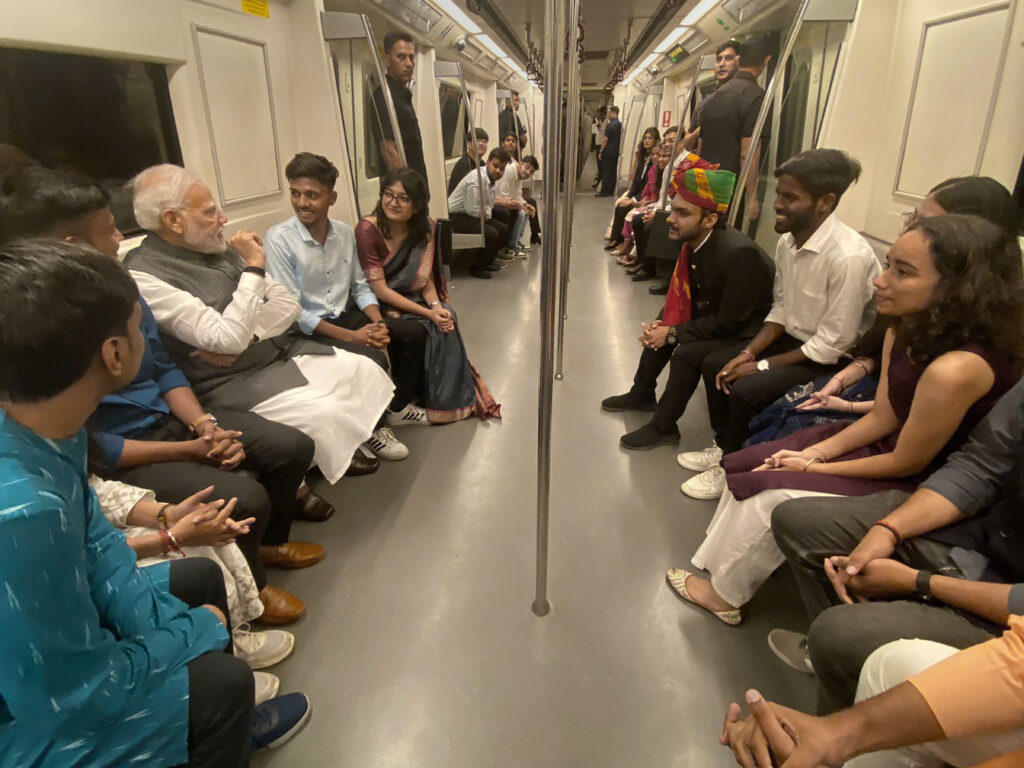
M308 384L275 394L252 412L312 437L313 463L335 483L373 433L394 384L369 357L340 349L334 354L302 354L295 362Z

